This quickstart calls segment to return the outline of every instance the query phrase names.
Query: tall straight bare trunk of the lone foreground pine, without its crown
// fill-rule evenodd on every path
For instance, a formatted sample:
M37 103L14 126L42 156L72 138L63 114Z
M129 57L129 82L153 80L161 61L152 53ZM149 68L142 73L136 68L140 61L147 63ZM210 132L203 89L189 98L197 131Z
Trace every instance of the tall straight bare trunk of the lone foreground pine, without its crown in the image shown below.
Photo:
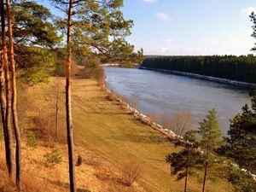
M76 191L75 183L75 168L73 162L73 124L71 113L71 54L72 54L72 15L73 15L73 0L69 1L68 20L67 20L67 68L66 68L66 113L67 113L67 145L68 145L68 163L69 163L69 180L70 191Z

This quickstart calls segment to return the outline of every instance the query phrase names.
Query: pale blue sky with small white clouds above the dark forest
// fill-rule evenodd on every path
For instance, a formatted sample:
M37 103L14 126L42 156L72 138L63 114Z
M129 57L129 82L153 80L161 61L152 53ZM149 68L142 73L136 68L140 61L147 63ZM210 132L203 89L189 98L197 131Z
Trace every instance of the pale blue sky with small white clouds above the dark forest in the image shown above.
M124 0L128 38L145 55L247 55L255 0Z

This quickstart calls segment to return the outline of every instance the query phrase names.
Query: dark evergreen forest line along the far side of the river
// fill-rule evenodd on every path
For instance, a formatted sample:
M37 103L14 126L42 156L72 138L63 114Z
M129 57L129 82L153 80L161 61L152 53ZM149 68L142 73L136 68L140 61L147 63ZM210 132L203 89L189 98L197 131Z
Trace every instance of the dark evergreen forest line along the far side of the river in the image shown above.
M158 56L146 58L142 67L256 83L256 57L253 55Z

